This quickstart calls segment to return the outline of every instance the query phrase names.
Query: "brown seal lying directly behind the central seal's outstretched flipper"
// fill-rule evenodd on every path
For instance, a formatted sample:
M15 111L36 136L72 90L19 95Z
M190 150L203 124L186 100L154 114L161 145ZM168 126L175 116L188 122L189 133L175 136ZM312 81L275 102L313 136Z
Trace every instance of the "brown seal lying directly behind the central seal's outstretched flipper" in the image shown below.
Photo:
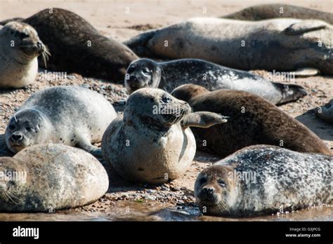
M193 111L211 111L228 116L228 123L206 130L192 128L200 149L219 156L255 144L270 144L293 151L331 155L320 138L274 104L240 90L209 92L202 86L183 85L171 95L186 101ZM201 147L202 146L202 147Z

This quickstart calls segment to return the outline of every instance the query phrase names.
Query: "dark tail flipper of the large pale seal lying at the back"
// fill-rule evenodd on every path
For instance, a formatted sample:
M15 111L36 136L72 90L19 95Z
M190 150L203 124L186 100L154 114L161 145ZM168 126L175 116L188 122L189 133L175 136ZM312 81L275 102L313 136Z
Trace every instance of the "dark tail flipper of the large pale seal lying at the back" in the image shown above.
M153 30L151 32L139 34L128 41L124 41L123 44L131 48L131 50L133 50L138 56L152 57L153 54L150 52L146 44L153 36L155 36L156 32L157 30Z

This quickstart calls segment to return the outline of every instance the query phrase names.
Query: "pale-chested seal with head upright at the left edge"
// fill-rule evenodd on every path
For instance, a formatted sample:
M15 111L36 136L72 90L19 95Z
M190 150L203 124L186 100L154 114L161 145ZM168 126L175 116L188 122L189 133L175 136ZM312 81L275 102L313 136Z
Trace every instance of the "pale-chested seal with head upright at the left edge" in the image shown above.
M23 88L34 83L39 55L46 62L49 53L30 25L8 22L0 27L0 88Z

